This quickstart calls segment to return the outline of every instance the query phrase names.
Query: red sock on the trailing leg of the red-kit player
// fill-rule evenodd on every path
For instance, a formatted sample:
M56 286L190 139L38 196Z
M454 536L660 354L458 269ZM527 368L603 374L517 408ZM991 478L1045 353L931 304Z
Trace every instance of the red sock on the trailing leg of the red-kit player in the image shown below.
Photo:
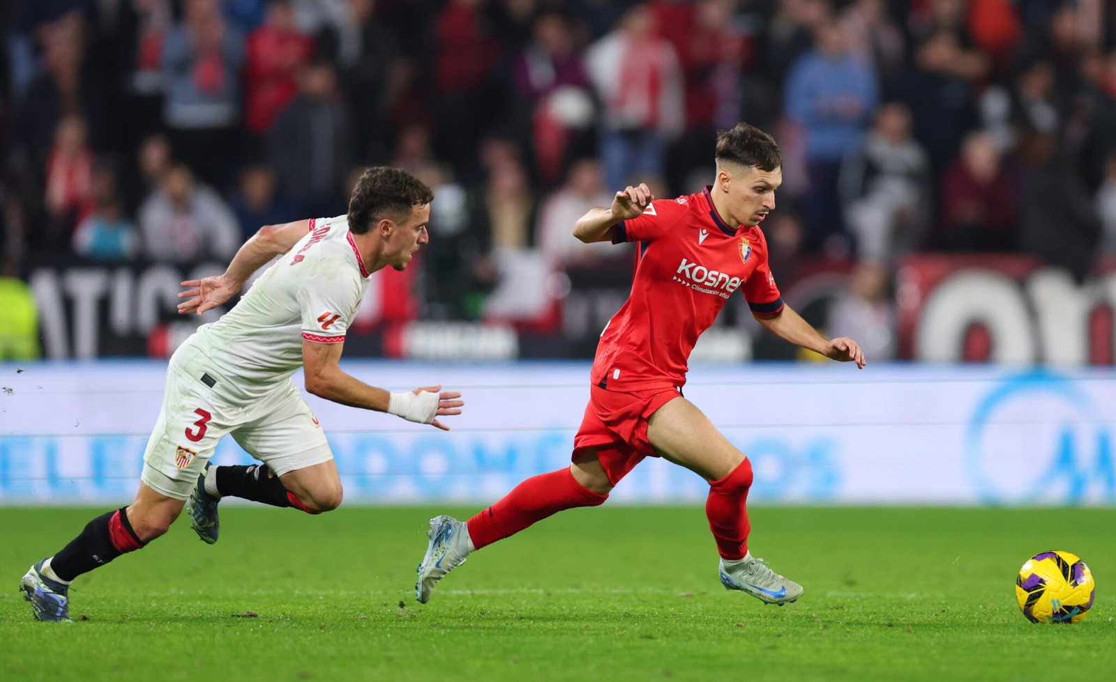
M606 499L607 495L581 487L569 467L540 474L519 484L500 501L469 519L469 538L480 549L562 509L595 507L605 504Z

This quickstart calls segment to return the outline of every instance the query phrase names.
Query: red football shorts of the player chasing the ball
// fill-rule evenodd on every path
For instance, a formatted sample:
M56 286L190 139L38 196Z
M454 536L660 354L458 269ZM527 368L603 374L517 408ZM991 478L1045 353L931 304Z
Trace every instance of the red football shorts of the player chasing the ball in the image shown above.
M596 448L597 459L615 486L644 457L658 457L647 442L647 420L681 396L673 387L623 392L590 386L589 405L574 437L574 458L584 448Z

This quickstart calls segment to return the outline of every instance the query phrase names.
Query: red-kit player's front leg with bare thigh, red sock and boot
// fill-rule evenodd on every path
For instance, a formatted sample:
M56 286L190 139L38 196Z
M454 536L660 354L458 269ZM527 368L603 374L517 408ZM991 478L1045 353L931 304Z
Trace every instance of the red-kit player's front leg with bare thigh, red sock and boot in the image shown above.
M658 408L647 422L647 440L664 458L709 481L705 516L721 554L719 575L728 590L740 590L768 604L793 602L798 583L768 568L748 552L748 489L752 467L713 422L685 398Z

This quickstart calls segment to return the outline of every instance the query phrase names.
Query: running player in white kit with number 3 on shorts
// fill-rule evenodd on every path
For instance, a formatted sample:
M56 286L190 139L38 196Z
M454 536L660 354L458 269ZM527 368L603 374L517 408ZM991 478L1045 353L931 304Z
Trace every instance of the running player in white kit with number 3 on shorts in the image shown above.
M180 294L186 301L179 312L202 313L282 256L228 314L199 328L171 357L135 500L93 519L31 566L20 588L37 620L69 621L74 578L166 533L187 499L191 525L209 543L217 542L221 496L310 514L337 508L341 484L333 452L290 379L300 367L315 396L449 429L437 417L460 415L461 393L440 386L389 393L338 366L369 275L386 265L405 269L430 240L433 196L404 170L368 168L346 215L264 226L224 274L183 282L190 289ZM263 464L211 468L209 458L228 433Z

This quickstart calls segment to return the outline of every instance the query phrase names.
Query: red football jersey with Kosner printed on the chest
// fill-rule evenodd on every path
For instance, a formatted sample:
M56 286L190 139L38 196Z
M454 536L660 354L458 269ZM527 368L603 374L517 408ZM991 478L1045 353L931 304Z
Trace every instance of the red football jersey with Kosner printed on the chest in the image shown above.
M632 293L600 333L593 383L639 390L686 381L686 361L732 292L752 312L782 310L759 227L729 227L710 187L656 199L643 215L613 227L613 243L639 242Z

